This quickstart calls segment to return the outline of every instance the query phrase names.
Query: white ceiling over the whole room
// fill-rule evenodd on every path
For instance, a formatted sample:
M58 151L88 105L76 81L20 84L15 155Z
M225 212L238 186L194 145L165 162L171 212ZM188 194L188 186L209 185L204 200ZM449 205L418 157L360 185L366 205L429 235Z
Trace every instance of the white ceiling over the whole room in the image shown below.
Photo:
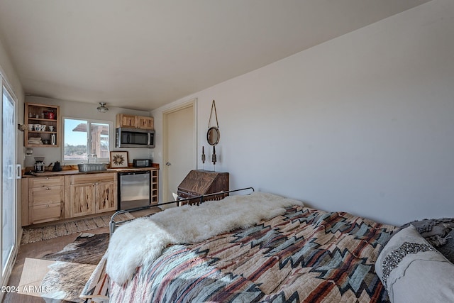
M428 0L1 0L26 94L151 110Z

